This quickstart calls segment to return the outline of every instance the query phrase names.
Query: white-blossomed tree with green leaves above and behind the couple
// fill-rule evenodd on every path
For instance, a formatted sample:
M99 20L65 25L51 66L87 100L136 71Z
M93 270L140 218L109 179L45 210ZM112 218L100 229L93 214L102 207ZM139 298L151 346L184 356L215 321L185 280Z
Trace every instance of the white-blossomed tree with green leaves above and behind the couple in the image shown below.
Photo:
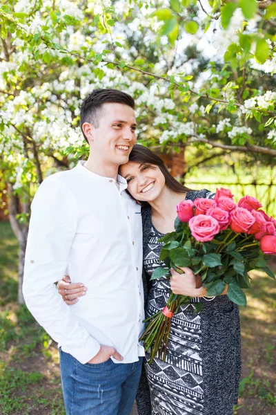
M134 96L146 145L218 148L272 163L275 16L270 0L0 6L0 177L21 248L20 281L32 195L46 175L86 154L79 104L91 89Z

